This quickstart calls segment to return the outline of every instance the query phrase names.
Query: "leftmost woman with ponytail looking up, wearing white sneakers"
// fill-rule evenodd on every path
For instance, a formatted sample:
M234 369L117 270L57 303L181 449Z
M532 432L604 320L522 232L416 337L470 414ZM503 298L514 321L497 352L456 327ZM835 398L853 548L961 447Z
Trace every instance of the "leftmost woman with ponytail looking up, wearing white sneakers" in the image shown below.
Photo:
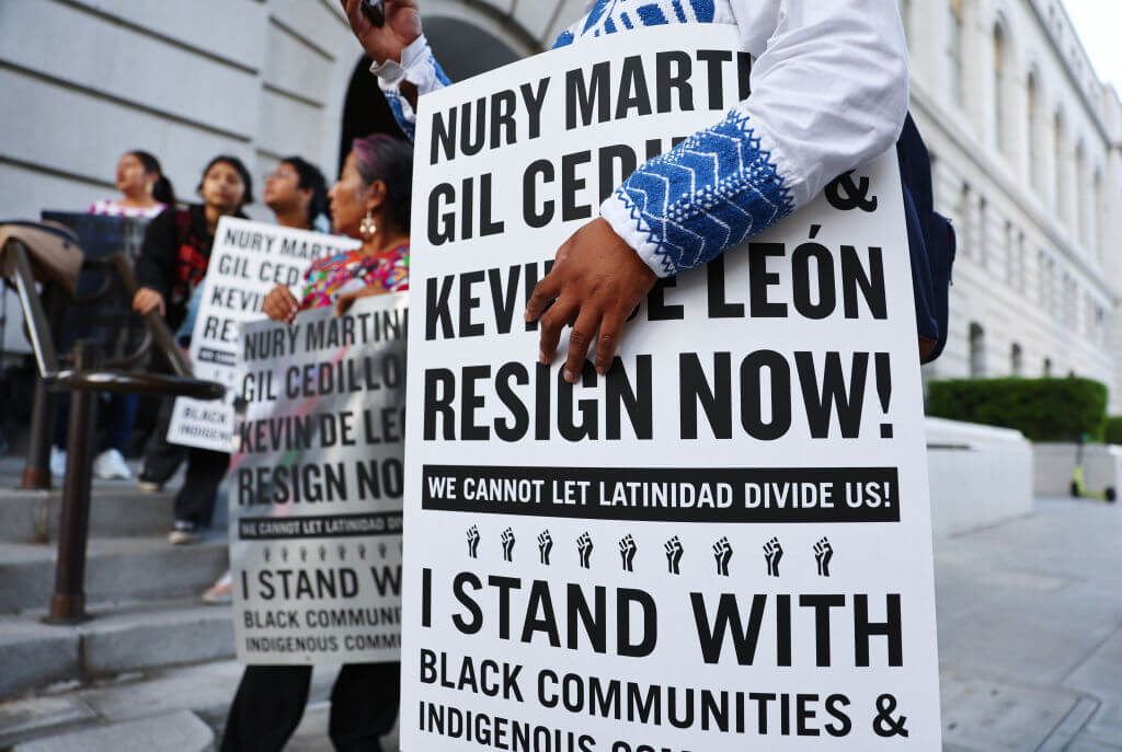
M117 163L117 189L120 198L101 198L90 206L89 214L148 219L175 204L172 182L164 177L159 160L147 151L135 149ZM139 399L136 394L103 394L104 407L99 410L105 418L105 428L93 461L98 477L128 480L132 472L125 463L132 424ZM70 392L58 396L55 406L54 436L50 445L50 473L66 474L66 433L70 420Z

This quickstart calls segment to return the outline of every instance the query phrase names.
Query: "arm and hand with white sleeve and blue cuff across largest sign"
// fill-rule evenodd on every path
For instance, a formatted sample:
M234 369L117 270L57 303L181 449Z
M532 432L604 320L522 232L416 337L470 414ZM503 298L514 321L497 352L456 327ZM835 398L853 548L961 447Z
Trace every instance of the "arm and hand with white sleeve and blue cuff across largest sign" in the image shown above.
M747 1L734 0L734 13L746 17ZM758 33L749 26L758 25L742 25L742 36ZM809 204L837 175L886 151L907 110L908 53L893 0L782 0L751 98L640 167L604 202L601 219L559 251L526 306L527 321L542 319L541 360L553 360L561 328L574 321L564 378L577 381L594 342L606 373L623 322L655 276L701 266Z

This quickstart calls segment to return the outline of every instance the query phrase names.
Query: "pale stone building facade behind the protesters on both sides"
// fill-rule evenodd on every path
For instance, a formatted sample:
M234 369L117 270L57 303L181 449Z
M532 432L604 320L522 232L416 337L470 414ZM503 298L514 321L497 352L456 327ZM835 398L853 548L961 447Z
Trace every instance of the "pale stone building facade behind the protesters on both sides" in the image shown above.
M425 29L459 80L549 47L583 4L425 0ZM951 336L926 378L1074 372L1122 409L1116 93L1059 0L901 0L901 13L912 110L959 234ZM2 214L112 194L131 148L188 198L217 154L242 157L258 193L289 154L331 177L352 136L394 129L364 68L338 0L0 0Z

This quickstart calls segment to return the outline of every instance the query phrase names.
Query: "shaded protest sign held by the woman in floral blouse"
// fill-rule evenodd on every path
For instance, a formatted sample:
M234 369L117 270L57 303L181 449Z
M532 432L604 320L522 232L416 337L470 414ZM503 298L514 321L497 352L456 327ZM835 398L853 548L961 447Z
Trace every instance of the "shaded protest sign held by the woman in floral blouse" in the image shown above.
M242 662L398 659L407 300L241 327L227 483Z

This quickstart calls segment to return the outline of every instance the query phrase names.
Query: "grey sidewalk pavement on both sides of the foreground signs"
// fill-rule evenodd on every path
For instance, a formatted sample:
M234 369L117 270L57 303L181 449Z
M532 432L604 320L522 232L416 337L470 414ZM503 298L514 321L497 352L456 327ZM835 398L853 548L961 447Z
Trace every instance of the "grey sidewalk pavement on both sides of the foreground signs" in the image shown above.
M1122 505L1065 499L936 541L947 752L1122 752L1120 540ZM224 661L0 703L0 732L20 718L58 731L157 716L182 723L180 711L220 730L239 676ZM291 750L331 749L331 678L316 671L315 702Z

